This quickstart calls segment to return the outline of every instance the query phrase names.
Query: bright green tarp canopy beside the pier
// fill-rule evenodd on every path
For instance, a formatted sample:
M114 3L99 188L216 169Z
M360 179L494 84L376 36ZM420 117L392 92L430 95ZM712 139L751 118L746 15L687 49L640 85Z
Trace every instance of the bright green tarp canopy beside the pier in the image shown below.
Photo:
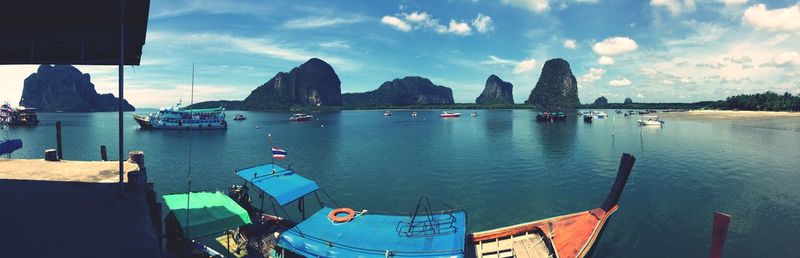
M194 192L164 195L167 208L175 213L184 234L190 239L210 236L252 223L247 211L221 192ZM186 208L189 198L189 208ZM189 223L186 223L186 213ZM188 230L188 234L187 231Z

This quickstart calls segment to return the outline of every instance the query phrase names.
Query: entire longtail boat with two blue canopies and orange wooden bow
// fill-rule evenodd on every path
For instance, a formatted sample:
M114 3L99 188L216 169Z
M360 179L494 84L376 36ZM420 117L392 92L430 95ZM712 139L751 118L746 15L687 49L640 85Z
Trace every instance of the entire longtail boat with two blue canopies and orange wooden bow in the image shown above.
M245 180L234 200L256 218L256 225L275 225L267 235L275 249L262 255L290 257L584 257L590 253L630 175L635 158L623 154L619 171L605 202L588 211L553 217L519 225L470 234L464 210L434 211L421 197L413 212L387 213L343 208L316 182L291 168L274 163L237 170ZM254 186L262 197L261 207L251 205L247 186ZM323 201L318 192L329 201ZM241 196L240 196L241 195ZM311 198L306 198L313 196ZM275 214L297 205L300 220L284 220L268 215L263 220L264 200L269 197ZM305 201L316 200L321 207L306 213ZM267 206L267 207L269 207ZM336 208L339 207L339 208ZM294 212L297 215L297 212ZM252 230L248 230L251 233ZM248 242L262 242L250 237ZM239 243L237 243L239 244ZM252 250L248 249L248 250ZM271 255L275 256L275 255Z

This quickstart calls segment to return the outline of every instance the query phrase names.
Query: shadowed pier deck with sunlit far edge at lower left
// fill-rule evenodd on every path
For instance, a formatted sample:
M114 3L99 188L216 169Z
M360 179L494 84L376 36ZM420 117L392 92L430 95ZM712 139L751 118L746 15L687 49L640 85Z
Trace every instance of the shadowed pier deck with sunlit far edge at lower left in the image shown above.
M134 162L135 161L135 162ZM161 204L144 157L0 159L3 257L162 257Z

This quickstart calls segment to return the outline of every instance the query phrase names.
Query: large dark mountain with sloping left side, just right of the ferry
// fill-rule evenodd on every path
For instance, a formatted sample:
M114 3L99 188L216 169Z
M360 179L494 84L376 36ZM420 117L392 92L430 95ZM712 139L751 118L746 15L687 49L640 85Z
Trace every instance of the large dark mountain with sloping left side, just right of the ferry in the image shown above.
M280 72L240 103L243 110L288 110L292 107L341 106L342 82L328 63L311 58L290 72Z

